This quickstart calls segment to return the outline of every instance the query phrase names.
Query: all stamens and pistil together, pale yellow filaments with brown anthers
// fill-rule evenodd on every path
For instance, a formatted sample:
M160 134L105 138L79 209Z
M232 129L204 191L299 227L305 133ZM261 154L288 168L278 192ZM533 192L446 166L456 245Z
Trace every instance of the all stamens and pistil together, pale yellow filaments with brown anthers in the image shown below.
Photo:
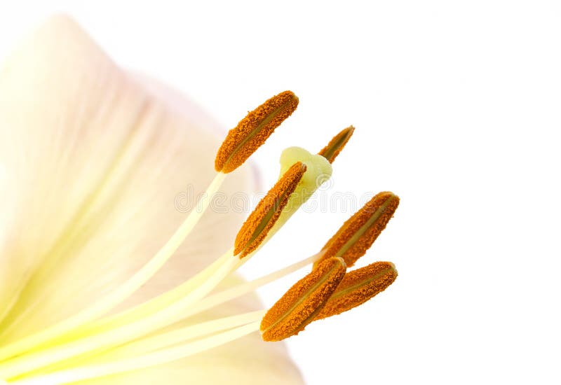
M347 265L365 253L397 208L395 195L381 193L344 223L320 253L254 281L215 291L329 178L330 163L353 134L354 128L349 127L319 155L302 148L289 148L283 153L280 179L245 221L231 250L180 286L118 314L105 315L168 261L194 229L227 173L264 143L295 111L297 102L292 92L282 92L250 112L229 132L217 155L217 175L201 195L198 207L202 210L191 211L139 272L78 314L0 347L0 385L65 384L138 370L212 349L259 330L265 341L278 341L297 334L317 319L349 310L387 288L397 276L389 262L346 272ZM164 330L312 264L312 271L269 311L250 311Z

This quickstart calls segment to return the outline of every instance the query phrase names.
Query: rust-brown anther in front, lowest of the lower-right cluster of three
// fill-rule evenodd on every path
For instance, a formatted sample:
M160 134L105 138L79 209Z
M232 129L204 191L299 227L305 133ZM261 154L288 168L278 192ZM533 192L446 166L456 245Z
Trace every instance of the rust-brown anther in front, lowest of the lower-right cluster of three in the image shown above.
M262 338L280 341L304 330L337 290L345 271L342 258L330 258L299 280L263 317Z

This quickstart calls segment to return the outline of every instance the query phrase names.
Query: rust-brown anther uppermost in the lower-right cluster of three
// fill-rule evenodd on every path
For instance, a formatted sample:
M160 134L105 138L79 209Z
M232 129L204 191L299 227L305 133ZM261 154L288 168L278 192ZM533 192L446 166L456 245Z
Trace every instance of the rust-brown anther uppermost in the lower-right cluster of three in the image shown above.
M314 264L331 257L341 257L351 267L372 246L396 212L399 197L387 191L378 193L349 218L323 246L323 256Z

